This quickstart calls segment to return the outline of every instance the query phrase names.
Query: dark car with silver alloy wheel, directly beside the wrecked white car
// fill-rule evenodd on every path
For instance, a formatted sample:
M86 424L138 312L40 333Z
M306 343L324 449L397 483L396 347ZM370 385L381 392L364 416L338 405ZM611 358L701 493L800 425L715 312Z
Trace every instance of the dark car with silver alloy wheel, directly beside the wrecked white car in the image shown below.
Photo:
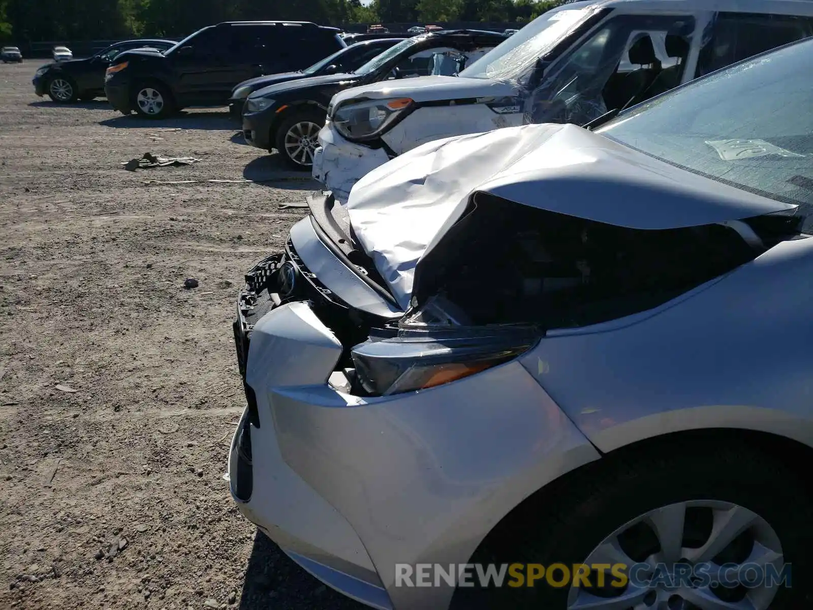
M456 72L465 67L467 54L481 54L504 40L502 34L478 30L428 33L406 38L351 74L311 76L259 89L246 99L243 135L251 146L276 148L292 168L309 170L334 94L387 79L446 73L434 65L446 53L463 55L461 63L443 63L454 64Z

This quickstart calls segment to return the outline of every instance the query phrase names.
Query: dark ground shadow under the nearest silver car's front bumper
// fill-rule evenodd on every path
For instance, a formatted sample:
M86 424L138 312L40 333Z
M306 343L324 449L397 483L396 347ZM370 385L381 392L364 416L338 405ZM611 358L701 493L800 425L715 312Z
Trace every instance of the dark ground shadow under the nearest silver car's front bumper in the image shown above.
M367 606L346 598L317 581L257 531L246 568L240 610L364 610Z

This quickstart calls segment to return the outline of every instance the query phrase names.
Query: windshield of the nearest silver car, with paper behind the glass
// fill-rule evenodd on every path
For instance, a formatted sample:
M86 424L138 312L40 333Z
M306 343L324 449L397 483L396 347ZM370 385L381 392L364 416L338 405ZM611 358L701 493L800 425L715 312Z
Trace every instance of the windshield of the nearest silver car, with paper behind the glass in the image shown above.
M715 181L813 207L813 41L693 81L597 133ZM810 219L811 217L808 216ZM806 220L810 231L811 220Z

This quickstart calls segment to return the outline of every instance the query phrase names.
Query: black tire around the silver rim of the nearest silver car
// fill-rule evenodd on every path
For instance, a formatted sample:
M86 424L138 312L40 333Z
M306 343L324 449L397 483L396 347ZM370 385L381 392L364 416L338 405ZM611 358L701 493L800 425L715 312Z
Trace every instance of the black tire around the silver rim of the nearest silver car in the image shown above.
M679 439L620 450L554 482L501 521L469 563L581 564L608 536L647 512L689 500L720 500L761 516L780 539L792 581L779 588L771 610L813 608L807 577L813 564L813 500L805 484L775 455L746 442ZM570 589L544 579L533 587L459 587L450 608L566 610Z

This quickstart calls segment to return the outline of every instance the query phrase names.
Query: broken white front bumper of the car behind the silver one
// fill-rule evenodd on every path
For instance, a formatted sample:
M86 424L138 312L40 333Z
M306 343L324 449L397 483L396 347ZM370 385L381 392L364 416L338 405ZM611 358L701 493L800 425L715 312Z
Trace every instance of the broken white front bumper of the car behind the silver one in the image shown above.
M319 132L319 144L313 159L313 177L341 203L347 202L356 182L389 161L383 148L350 142L329 121Z

